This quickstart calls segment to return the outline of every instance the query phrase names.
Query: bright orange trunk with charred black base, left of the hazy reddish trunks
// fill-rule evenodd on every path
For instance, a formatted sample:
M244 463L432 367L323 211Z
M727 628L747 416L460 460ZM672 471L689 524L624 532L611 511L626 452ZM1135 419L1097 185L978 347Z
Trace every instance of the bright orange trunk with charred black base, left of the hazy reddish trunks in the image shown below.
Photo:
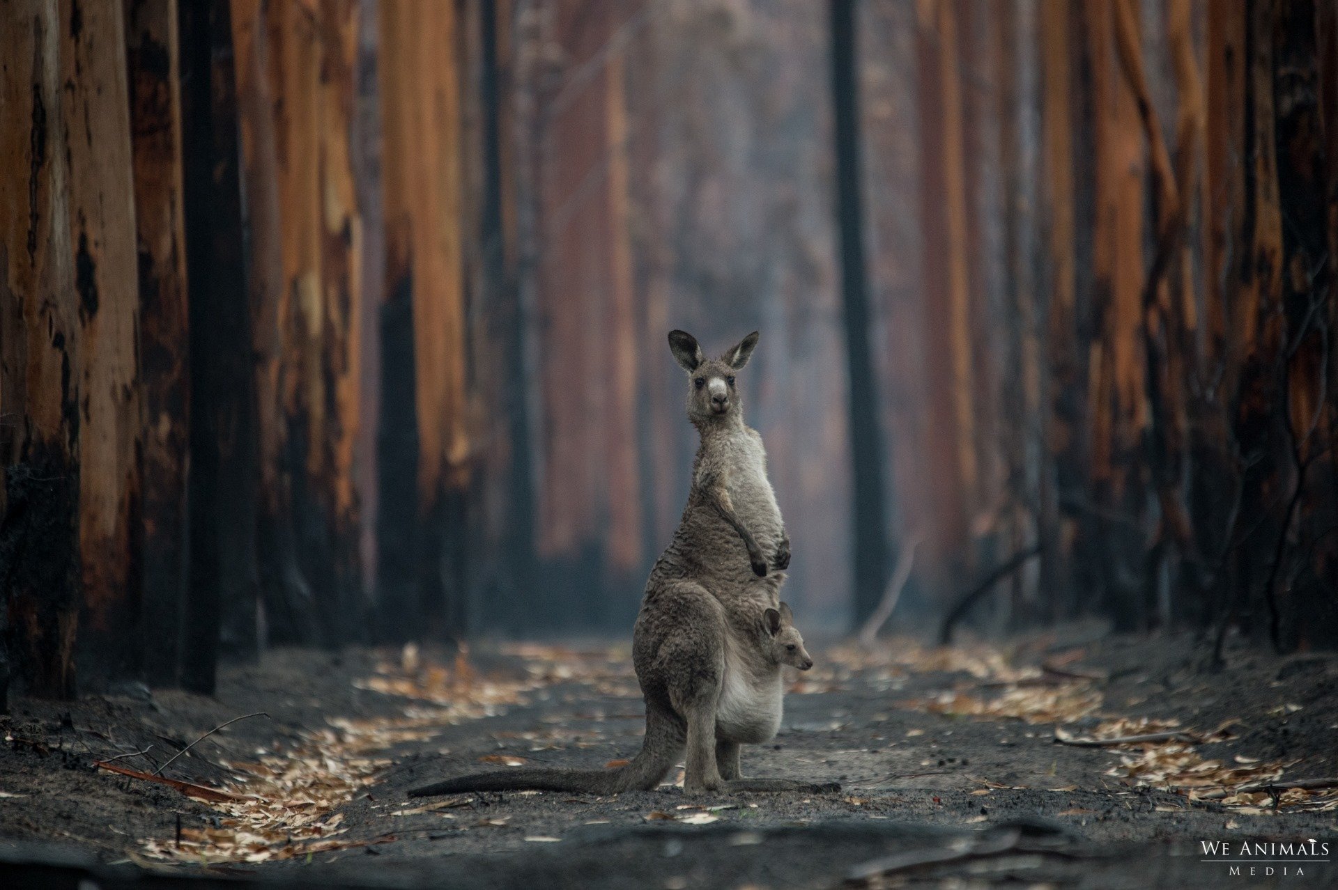
M385 293L379 551L392 637L456 636L468 480L456 11L381 7ZM442 53L447 57L443 59ZM413 469L412 478L400 474ZM412 488L411 488L412 484Z

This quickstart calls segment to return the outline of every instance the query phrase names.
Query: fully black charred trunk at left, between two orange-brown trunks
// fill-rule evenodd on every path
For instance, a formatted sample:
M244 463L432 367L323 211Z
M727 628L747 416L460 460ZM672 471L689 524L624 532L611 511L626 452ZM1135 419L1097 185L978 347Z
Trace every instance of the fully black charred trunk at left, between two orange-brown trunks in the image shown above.
M258 444L229 4L182 4L179 33L191 402L181 676L211 694L225 603L258 601Z

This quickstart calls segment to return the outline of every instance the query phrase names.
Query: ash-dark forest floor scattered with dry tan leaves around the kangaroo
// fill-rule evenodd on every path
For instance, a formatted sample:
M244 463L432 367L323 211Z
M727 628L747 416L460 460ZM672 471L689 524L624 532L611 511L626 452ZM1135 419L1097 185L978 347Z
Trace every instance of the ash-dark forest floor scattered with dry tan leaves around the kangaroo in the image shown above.
M0 883L1338 886L1338 788L1286 790L1338 776L1334 655L1234 645L1211 671L1188 636L1073 632L809 651L744 771L842 784L822 795L405 796L479 768L630 758L625 643L274 651L225 668L213 698L17 699L0 718ZM178 784L146 778L253 712L167 764ZM135 775L95 766L110 758Z

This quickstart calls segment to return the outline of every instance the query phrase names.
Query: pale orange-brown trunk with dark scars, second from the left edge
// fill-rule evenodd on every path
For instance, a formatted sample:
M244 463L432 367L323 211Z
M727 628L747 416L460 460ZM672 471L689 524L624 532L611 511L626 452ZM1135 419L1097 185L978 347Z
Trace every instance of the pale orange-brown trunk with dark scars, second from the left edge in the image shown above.
M104 679L138 672L140 596L139 289L124 12L60 4L60 112L79 297L80 649Z

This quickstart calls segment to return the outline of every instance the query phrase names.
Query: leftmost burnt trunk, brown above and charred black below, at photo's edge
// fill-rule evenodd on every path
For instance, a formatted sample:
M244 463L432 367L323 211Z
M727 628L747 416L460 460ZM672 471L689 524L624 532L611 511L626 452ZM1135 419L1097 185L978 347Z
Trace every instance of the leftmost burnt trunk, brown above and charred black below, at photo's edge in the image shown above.
M0 7L0 711L13 675L72 698L79 624L79 313L70 245L60 21Z

